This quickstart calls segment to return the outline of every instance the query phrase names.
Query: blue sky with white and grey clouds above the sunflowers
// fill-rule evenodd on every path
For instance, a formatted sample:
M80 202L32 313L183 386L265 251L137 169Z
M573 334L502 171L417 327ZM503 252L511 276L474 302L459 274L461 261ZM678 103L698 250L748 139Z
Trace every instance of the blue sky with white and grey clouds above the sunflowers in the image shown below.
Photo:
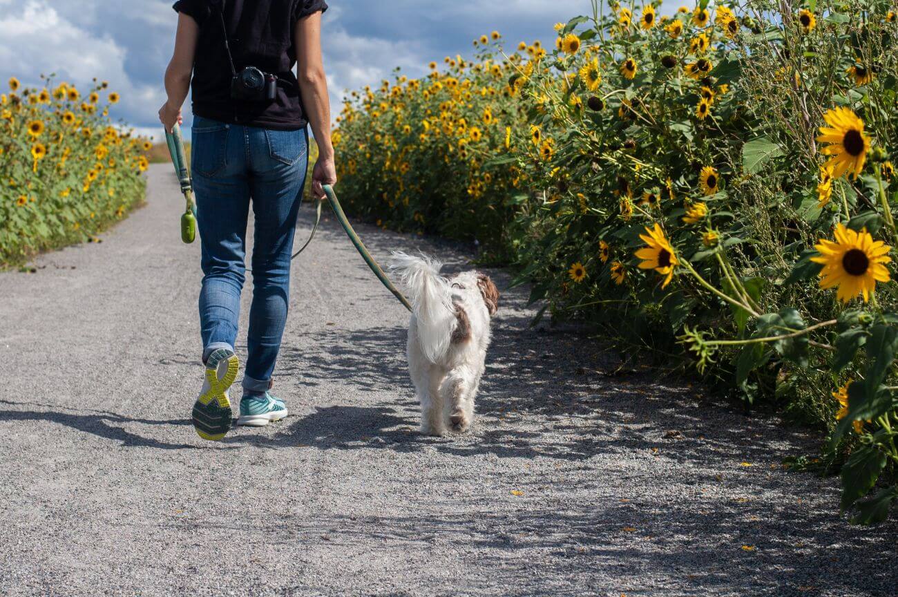
M163 75L172 56L173 0L0 0L0 87L57 75L121 94L111 116L159 136ZM409 76L431 60L470 54L471 41L500 31L509 45L550 44L555 22L591 11L589 0L333 0L322 26L333 110L346 90L377 84L399 66ZM191 120L185 104L185 125Z

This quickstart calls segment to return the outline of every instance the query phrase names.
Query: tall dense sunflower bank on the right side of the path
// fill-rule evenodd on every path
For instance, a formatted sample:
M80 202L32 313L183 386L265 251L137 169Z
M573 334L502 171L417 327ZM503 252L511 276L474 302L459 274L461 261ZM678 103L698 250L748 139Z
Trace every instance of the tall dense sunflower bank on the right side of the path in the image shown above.
M855 522L881 521L898 500L894 11L594 2L551 47L493 31L471 60L348 95L341 195L513 264L539 317L825 429L816 468L841 470Z

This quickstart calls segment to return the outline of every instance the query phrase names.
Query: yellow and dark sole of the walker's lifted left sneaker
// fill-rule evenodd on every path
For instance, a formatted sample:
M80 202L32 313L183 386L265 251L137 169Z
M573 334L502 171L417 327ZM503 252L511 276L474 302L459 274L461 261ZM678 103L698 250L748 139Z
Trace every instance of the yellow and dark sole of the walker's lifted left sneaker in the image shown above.
M218 379L218 367L222 362L227 364L225 375ZM231 430L233 412L231 401L225 394L237 379L240 360L230 350L221 348L209 356L206 364L206 381L208 391L201 395L193 405L191 420L197 435L209 442L220 442Z

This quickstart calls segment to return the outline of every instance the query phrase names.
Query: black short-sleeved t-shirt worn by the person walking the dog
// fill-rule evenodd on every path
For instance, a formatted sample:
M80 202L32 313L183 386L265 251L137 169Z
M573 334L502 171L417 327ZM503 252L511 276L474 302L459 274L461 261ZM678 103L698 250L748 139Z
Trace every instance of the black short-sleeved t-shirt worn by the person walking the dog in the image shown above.
M225 50L220 9L239 73L255 66L277 75L275 101L233 101L231 66ZM308 124L293 72L296 65L296 22L328 8L324 0L178 0L174 9L199 25L193 65L193 113L250 127L296 130Z

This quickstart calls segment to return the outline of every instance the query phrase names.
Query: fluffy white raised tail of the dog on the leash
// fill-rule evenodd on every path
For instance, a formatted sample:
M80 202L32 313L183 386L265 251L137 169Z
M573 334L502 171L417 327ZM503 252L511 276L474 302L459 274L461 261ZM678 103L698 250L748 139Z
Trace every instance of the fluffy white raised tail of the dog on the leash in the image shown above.
M390 272L399 277L409 292L409 301L418 319L418 340L427 360L436 363L449 349L452 335L458 326L452 293L445 277L440 276L443 264L425 255L413 257L401 251L392 254Z

